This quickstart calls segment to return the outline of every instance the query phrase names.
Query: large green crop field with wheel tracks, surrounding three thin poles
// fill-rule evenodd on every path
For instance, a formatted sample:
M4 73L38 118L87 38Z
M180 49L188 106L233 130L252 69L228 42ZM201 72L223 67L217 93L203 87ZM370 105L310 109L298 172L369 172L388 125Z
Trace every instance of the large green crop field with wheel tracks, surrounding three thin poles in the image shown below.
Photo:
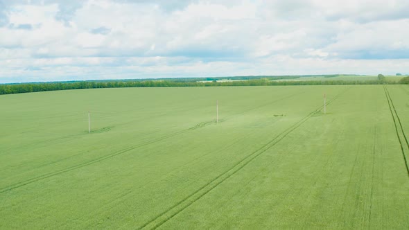
M408 229L408 99L404 85L3 95L0 229Z

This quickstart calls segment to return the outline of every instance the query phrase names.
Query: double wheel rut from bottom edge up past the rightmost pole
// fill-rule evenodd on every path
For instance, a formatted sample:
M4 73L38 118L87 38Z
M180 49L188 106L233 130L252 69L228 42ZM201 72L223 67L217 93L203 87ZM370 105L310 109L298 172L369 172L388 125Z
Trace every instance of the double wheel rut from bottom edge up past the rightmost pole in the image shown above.
M349 89L349 88L348 88ZM348 89L346 89L345 91L347 91ZM345 93L345 91L342 91L340 94L338 94L337 96L335 96L334 98L332 98L331 100L329 100L329 102L327 103L327 105L329 105L330 103L333 102L333 100L336 100L339 96L341 96L342 94ZM181 200L180 202L177 202L175 205L171 206L170 208L166 209L166 211L159 213L159 215L156 215L154 218L152 218L151 220L149 220L148 222L146 222L145 224L143 224L141 227L138 227L138 229L144 229L146 227L148 227L148 225L153 224L154 222L156 222L159 218L162 218L164 215L166 215L167 213L171 212L173 209L177 209L177 206L182 206L180 207L180 209L177 209L175 211L175 213L170 214L167 218L164 218L164 220L158 222L157 224L153 225L152 227L150 227L150 229L157 229L158 227L160 227L162 224L164 224L165 222L167 222L168 220L171 220L171 218L173 218L175 215L177 215L178 213L184 211L184 209L186 209L187 207L191 206L191 204L193 204L194 202L198 201L200 198L202 198L204 195L206 195L207 193L209 193L210 191L212 191L214 188L216 188L218 185L222 184L223 182L225 182L225 180L227 180L229 177L232 177L233 175L236 174L236 172L238 172L239 170L241 170L242 168L244 168L248 163L252 162L253 159L255 159L256 157L259 157L259 155L263 154L263 152L266 152L267 150L269 150L270 148L272 148L274 145L276 145L277 143L279 143L279 141L281 141L282 139L284 139L288 134L290 134L290 132L293 132L293 130L297 129L297 127L299 127L300 125L302 125L303 123L305 123L306 121L308 121L309 118L311 118L315 113L319 112L322 108L324 107L324 105L318 107L317 109L315 109L313 112L311 112L310 114L308 114L307 116L305 116L304 118L302 118L301 120L297 121L297 123L295 123L294 125L291 125L290 127L288 127L288 129L284 130L283 132L281 132L280 134L278 134L277 136L275 136L274 139L272 139L271 141L269 141L268 143L266 143L265 145L261 146L261 148L255 150L254 152L252 152L251 154L247 155L247 157L241 159L241 161L238 161L238 163L236 163L234 166L232 166L231 168L229 168L228 170L226 170L225 172L223 172L222 174L218 175L217 177L215 177L214 179L212 179L210 182L208 182L207 184L204 184L204 186L200 187L198 190L196 190L195 192L191 193L191 195L188 195L187 197L184 198L184 200ZM247 160L248 159L248 160ZM247 160L247 161L246 161ZM242 164L242 165L241 165ZM240 166L241 165L241 166ZM238 167L238 168L236 168ZM234 169L236 168L236 169ZM230 172L230 173L229 173ZM223 179L220 179L223 178ZM216 182L218 179L220 179L220 182ZM216 183L216 184L214 184ZM214 185L211 185L214 184ZM208 188L207 188L208 187ZM207 189L205 189L207 188ZM202 192L202 190L204 190L204 192ZM194 197L195 195L199 194L200 192L202 192L202 194L198 195L198 197ZM193 200L189 201L189 199L193 198ZM187 204L183 204L183 203L187 203Z

